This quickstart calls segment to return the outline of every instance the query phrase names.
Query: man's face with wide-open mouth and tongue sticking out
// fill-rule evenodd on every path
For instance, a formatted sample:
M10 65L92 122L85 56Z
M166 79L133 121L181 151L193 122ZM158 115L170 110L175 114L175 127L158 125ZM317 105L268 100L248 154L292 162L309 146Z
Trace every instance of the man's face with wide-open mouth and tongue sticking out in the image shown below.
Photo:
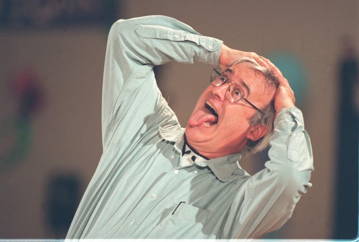
M258 111L248 103L228 101L225 93L230 83L238 84L244 98L259 109L270 103L276 91L262 73L249 68L247 63L230 67L226 74L229 83L219 87L209 85L203 91L185 130L188 144L208 158L238 153L248 139L257 140L267 131L266 126L250 125L250 118Z

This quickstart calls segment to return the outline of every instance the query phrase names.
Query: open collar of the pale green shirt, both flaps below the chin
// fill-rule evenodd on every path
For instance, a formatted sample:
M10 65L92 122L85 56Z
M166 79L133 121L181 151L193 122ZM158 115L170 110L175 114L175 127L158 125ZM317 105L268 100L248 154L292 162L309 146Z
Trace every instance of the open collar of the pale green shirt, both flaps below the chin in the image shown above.
M181 153L184 145L184 128L179 126L161 127L159 128L160 135L170 142L175 142L175 147ZM239 168L238 160L241 159L241 154L231 154L223 157L209 159L204 162L194 162L199 166L208 166L214 175L221 181L227 182L233 172Z

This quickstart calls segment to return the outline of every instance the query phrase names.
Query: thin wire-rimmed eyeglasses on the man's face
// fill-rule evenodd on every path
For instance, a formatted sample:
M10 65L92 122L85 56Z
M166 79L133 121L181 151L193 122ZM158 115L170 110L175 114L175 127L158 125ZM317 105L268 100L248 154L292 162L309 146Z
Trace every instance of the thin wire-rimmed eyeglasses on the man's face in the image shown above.
M228 78L227 74L225 73L225 71L223 71L220 68L213 68L213 71L212 71L211 76L210 76L210 82L214 87L222 86L225 83L230 84L227 91L226 91L226 93L225 93L225 96L226 96L226 98L228 99L229 102L231 102L233 104L233 103L237 103L241 99L243 99L250 106L252 106L254 109L256 109L261 114L263 114L263 111L258 109L251 102L249 102L246 98L244 98L243 89L238 84L230 83L230 82L228 82L228 80L229 80L229 78Z

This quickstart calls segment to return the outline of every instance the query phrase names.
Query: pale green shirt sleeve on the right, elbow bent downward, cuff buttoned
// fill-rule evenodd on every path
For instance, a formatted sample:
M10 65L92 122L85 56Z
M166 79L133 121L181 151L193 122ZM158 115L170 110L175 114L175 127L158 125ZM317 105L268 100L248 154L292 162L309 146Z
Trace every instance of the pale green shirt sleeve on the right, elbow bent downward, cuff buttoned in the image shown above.
M299 109L281 110L270 146L265 169L249 177L238 191L228 212L224 237L257 238L278 230L312 186L311 142Z

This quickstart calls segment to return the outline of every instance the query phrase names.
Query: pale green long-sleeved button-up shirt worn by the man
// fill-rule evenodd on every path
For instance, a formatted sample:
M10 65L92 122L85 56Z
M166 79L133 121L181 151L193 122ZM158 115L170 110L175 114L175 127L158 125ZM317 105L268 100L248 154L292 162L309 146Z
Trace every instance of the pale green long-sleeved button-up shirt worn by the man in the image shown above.
M220 40L165 16L119 20L108 38L103 155L67 238L243 239L280 228L306 193L313 158L303 117L275 120L270 160L249 176L240 154L180 166L184 129L154 65L218 64Z

